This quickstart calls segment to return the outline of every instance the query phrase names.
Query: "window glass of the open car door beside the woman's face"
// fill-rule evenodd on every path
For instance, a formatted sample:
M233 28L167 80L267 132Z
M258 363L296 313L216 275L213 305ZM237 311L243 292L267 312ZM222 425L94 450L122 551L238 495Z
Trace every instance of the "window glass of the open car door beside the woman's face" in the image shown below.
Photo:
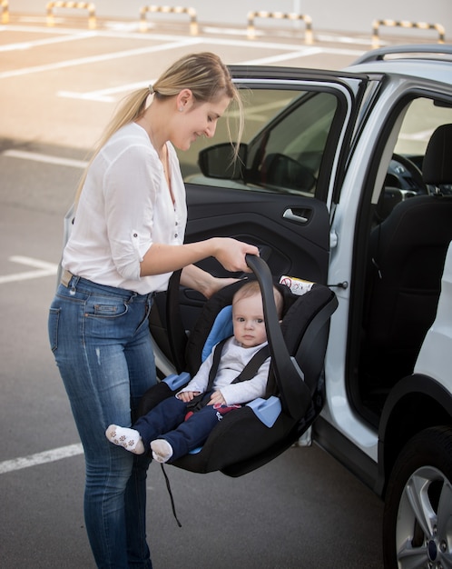
M315 196L322 159L338 113L336 95L326 91L247 89L242 99L245 129L240 167L231 166L225 116L219 121L214 138L198 140L188 152L179 153L185 181ZM231 108L232 140L236 117L237 111ZM331 164L325 167L330 168Z

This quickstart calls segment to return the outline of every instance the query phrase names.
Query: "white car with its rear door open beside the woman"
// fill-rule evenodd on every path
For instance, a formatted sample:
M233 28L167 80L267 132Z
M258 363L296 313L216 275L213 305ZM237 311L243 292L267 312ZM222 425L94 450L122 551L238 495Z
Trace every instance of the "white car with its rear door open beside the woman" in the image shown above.
M342 72L231 71L241 164L220 127L180 155L186 239L234 236L272 275L337 294L312 440L384 499L385 567L452 567L452 45L382 48ZM152 336L170 374L158 296ZM203 302L180 290L185 329Z

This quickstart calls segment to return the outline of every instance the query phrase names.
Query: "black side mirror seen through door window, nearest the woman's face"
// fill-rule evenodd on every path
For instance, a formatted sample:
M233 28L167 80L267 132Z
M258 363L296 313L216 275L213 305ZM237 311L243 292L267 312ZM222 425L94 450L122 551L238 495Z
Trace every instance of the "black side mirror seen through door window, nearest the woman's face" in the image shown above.
M248 146L240 145L239 156L234 161L234 148L230 143L204 148L198 156L201 173L208 178L243 180L247 152Z

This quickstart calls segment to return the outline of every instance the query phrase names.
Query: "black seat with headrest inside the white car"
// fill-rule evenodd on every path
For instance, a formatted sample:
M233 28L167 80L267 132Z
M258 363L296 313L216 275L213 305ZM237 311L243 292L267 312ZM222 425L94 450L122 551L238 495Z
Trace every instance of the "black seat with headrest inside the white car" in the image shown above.
M427 145L423 180L452 184L452 125L441 125ZM378 384L411 374L433 323L441 275L452 240L452 196L410 197L370 235L372 270L363 320L361 364Z

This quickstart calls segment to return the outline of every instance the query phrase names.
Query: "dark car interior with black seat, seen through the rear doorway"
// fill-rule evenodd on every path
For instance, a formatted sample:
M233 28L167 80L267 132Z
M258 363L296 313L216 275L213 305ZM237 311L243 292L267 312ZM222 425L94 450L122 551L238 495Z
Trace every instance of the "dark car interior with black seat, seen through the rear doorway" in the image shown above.
M452 240L452 124L436 125L452 119L451 108L417 101L413 110L420 103L435 126L422 133L425 150L418 143L416 153L392 155L368 238L355 403L373 424L390 388L413 373ZM414 138L407 135L410 118L408 111L396 148Z

